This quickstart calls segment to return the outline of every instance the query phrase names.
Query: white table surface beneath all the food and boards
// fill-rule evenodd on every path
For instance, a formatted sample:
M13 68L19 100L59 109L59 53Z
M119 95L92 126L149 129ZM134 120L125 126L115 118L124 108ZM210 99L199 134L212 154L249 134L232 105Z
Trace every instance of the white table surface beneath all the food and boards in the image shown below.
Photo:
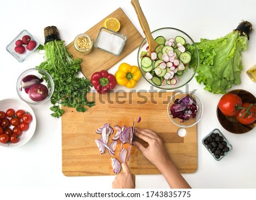
M216 39L231 32L241 20L249 20L256 27L256 1L146 1L141 0L151 30L160 27L176 27L187 32L195 41L200 38ZM16 80L20 73L34 68L43 61L43 55L33 53L26 61L19 63L7 51L6 45L23 29L26 29L44 43L43 30L56 26L61 39L71 43L77 34L85 32L105 16L121 7L134 26L143 35L133 6L129 0L95 1L0 1L0 99L14 97ZM144 35L143 35L144 37ZM250 35L249 48L242 53L244 69L241 85L232 89L245 89L256 95L256 83L246 75L246 70L256 64L256 35ZM137 65L135 49L114 65L127 62ZM125 89L117 86L115 88ZM142 78L135 89L150 89ZM182 88L185 90L185 87ZM224 130L218 123L216 106L221 94L210 94L197 84L195 78L189 83L189 90L197 89L204 105L203 118L197 126L198 169L196 173L183 174L192 188L256 188L256 130L235 135ZM126 89L129 91L128 89ZM31 106L34 109L37 127L35 135L23 147L0 148L0 188L48 188L48 189L100 189L111 188L114 176L66 177L61 172L61 118L50 116L45 103ZM201 140L214 128L219 128L233 145L233 151L221 161L216 161L201 144ZM137 176L137 188L168 188L162 175Z

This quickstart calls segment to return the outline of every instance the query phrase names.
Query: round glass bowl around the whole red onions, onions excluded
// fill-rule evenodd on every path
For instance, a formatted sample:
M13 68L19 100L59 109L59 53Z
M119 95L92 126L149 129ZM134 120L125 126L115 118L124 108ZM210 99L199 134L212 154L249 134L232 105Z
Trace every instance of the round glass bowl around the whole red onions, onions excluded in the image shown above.
M22 80L24 77L26 77L28 75L35 75L36 77L43 79L43 82L41 82L40 84L45 85L48 89L48 95L47 95L46 99L44 99L43 101L33 101L29 97L27 91L24 88L22 88ZM22 74L20 74L18 81L16 83L16 90L17 90L19 97L23 101L30 103L31 105L40 105L42 103L47 102L51 98L53 91L54 91L54 83L53 83L52 77L45 70L38 69L38 68L31 68L31 69L27 69Z

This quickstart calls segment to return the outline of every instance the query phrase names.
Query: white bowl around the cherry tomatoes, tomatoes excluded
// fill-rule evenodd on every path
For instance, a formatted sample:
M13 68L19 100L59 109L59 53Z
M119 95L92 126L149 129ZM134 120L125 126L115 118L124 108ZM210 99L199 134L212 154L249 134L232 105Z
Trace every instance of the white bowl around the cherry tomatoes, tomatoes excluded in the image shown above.
M7 143L0 143L0 147L5 147L5 148L21 147L22 145L30 141L30 139L35 133L35 129L36 129L35 113L26 102L18 98L1 99L0 110L5 112L7 109L14 109L15 111L24 110L32 115L32 121L29 123L29 128L27 131L22 131L22 135L19 136L18 143L11 143L10 141L7 141ZM13 126L10 126L9 128L12 130Z

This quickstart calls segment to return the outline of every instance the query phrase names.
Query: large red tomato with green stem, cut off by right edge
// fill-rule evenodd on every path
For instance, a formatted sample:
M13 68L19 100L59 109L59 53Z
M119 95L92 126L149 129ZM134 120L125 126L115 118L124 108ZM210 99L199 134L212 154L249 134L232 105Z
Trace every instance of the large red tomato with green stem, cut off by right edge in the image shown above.
M238 122L245 125L253 123L256 120L256 107L251 103L247 102L243 103L242 107L244 107L245 109L241 109L236 114Z

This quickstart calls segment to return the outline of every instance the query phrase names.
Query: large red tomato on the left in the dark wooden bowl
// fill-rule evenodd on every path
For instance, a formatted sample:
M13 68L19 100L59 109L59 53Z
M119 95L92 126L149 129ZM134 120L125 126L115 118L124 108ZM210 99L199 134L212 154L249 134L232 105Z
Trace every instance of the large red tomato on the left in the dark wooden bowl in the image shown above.
M224 94L218 101L218 108L226 116L234 116L238 113L237 106L242 105L242 99L233 93Z

